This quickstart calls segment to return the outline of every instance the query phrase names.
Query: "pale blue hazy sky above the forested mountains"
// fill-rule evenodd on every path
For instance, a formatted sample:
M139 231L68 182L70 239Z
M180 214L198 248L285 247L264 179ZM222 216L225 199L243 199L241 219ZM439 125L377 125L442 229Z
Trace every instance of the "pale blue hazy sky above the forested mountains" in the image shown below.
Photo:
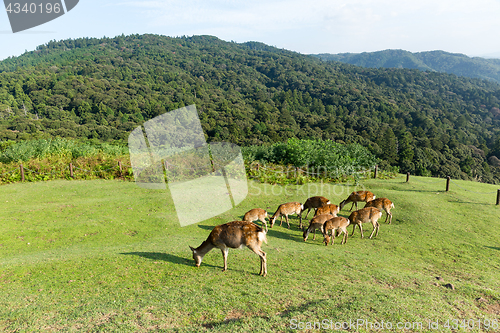
M500 58L499 18L500 0L80 0L17 33L0 11L0 60L51 40L136 33L213 35L303 54L403 49Z

